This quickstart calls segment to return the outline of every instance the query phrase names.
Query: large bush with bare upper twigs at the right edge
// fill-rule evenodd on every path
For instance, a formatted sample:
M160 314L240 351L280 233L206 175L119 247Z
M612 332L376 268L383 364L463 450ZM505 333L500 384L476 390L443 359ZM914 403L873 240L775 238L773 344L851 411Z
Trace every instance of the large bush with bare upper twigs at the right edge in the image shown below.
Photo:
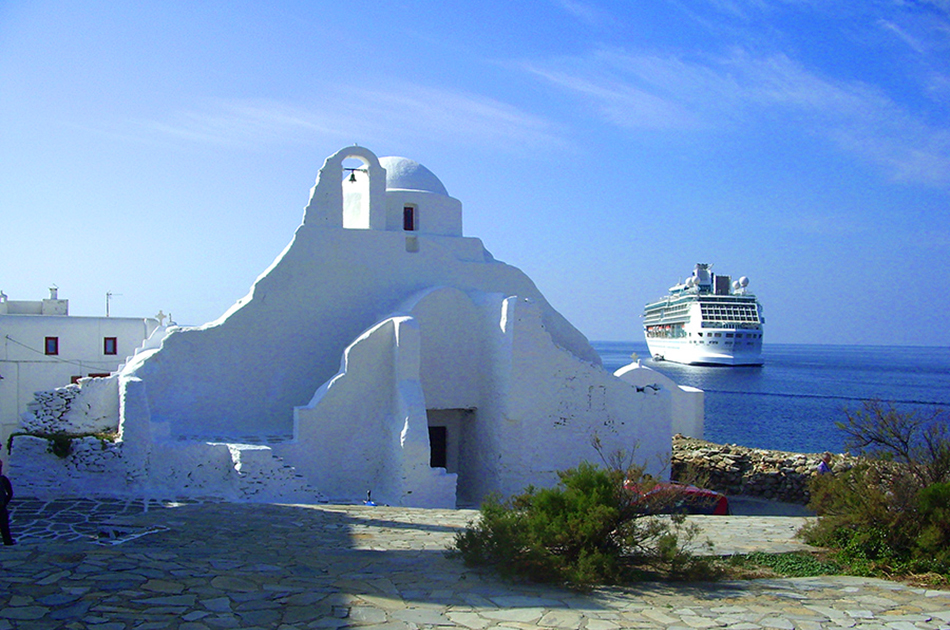
M871 401L839 427L861 462L810 484L818 522L805 539L838 551L850 572L950 575L950 435L941 412L921 417Z

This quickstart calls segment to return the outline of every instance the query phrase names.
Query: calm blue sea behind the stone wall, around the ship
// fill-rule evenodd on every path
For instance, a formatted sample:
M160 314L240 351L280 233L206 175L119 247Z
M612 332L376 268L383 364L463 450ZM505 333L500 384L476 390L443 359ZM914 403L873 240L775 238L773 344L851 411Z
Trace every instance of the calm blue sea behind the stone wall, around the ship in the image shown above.
M592 345L611 372L636 352L643 365L705 391L705 438L720 444L842 452L835 422L865 400L950 410L950 348L766 344L762 367L700 367L653 361L645 342Z

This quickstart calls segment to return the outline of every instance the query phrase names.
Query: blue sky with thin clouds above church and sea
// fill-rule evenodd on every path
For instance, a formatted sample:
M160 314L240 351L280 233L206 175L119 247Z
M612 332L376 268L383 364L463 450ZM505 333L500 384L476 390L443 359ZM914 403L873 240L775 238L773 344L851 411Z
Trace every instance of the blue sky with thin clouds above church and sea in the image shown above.
M766 346L950 345L950 0L3 0L0 290L214 320L354 143L589 339L707 262Z

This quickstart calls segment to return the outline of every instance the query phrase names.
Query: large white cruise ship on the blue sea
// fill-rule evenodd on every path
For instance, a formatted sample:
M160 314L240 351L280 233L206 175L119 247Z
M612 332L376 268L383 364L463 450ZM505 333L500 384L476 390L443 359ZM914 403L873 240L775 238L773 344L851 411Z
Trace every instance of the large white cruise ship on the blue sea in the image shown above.
M655 360L686 365L762 365L762 305L745 276L733 281L699 263L686 282L643 310Z

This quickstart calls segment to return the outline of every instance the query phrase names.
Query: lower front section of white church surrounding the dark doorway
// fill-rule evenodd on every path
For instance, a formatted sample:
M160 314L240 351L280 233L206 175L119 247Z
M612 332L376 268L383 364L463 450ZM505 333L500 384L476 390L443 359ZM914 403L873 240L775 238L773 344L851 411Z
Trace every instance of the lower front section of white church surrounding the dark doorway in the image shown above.
M348 348L341 372L297 409L297 439L274 446L331 498L477 504L603 463L595 437L603 455L664 472L670 392L638 392L558 348L533 302L443 287L405 306ZM428 468L433 410L465 410L449 439L456 474Z

